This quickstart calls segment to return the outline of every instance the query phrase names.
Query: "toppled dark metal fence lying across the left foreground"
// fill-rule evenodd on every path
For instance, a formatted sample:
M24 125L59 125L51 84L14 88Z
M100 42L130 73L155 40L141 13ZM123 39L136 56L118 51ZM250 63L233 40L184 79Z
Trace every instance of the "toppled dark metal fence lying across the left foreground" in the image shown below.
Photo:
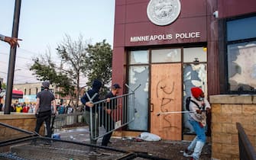
M169 159L147 152L131 152L85 142L50 139L1 122L0 128L2 130L0 137L4 138L0 139L0 159ZM14 134L6 136L5 133Z

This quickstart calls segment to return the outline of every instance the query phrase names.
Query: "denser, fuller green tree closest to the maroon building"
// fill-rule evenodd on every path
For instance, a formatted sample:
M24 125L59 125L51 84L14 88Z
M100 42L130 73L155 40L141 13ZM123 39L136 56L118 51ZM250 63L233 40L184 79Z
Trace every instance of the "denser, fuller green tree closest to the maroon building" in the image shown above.
M88 78L88 86L94 79L102 80L103 86L112 80L112 48L103 40L95 45L88 45L86 54L86 67L83 68Z

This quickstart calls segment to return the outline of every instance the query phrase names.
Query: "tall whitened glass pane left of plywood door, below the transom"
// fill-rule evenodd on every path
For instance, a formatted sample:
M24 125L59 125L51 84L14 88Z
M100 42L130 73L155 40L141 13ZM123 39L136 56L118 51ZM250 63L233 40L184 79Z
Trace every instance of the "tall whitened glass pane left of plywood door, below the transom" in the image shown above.
M134 121L128 124L129 130L147 130L148 122L148 66L130 66L129 67L129 87L136 88L134 96ZM129 109L131 107L128 107Z

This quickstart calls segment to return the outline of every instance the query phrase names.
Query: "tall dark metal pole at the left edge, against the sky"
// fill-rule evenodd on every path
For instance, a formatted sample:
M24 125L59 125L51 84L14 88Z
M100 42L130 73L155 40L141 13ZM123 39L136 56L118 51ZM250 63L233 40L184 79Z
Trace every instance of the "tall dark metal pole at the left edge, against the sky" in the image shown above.
M11 37L18 37L18 24L20 21L20 12L21 12L21 0L15 0L15 14L13 18ZM4 114L10 114L11 112L11 97L12 97L13 77L15 72L16 49L17 49L17 46L15 46L14 48L11 48L10 50Z

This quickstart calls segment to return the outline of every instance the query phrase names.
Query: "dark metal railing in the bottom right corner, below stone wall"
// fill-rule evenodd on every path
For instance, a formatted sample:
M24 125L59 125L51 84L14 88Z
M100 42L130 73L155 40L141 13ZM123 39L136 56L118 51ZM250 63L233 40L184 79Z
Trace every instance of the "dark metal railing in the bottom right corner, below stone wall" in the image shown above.
M236 123L238 130L239 157L241 160L256 160L256 152L254 146L251 145L245 130L241 123Z

